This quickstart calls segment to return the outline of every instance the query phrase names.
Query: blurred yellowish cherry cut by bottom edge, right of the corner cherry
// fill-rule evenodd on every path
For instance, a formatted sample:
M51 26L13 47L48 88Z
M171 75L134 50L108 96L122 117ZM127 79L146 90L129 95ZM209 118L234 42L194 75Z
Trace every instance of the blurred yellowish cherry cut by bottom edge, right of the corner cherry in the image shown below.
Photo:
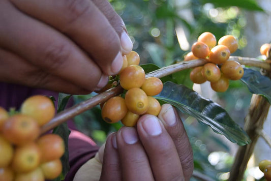
M17 173L14 181L45 181L40 167L26 173Z

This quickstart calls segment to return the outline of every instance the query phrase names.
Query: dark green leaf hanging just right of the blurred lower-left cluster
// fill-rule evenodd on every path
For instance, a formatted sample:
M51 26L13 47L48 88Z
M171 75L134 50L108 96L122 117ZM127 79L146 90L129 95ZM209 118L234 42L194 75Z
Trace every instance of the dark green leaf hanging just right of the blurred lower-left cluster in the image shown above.
M57 104L57 112L61 112L65 109L69 99L71 98L72 95L64 94L64 93L59 93L58 94L58 104ZM54 181L61 181L65 179L66 174L70 170L70 164L69 164L69 149L68 149L68 139L70 135L70 129L68 128L67 123L63 123L59 126L57 126L54 130L54 134L58 134L61 136L64 140L65 143L65 153L61 157L61 162L62 162L62 173L59 175L57 178L53 179Z

